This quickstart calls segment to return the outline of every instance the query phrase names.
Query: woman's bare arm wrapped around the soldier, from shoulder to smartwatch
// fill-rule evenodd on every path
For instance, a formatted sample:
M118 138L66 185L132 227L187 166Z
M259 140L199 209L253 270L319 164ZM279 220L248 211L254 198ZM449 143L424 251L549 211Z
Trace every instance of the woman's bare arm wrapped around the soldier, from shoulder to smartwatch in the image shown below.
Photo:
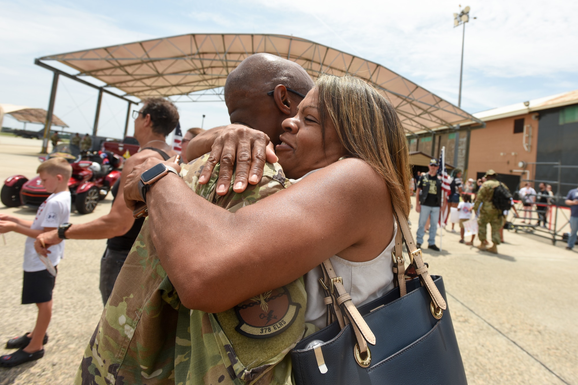
M131 195L129 184L125 194ZM147 194L162 266L183 304L206 312L287 284L334 254L375 258L391 240L390 202L383 180L356 159L235 213L198 197L171 174Z

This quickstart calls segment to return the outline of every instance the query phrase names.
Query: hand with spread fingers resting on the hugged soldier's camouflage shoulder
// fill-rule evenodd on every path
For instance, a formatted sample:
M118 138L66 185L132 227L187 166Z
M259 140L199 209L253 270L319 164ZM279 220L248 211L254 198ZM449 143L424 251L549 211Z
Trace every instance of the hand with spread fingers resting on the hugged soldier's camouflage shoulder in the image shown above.
M248 183L257 184L261 180L265 162L276 161L277 156L269 136L243 124L229 124L218 133L199 177L199 184L209 182L214 166L220 163L216 193L227 194L234 169L233 190L242 193Z

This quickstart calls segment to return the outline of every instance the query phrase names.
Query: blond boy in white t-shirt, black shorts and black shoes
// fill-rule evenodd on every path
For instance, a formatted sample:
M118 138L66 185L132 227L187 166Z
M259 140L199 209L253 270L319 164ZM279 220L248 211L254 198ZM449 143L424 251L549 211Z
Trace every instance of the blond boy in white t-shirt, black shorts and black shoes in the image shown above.
M9 349L18 349L12 354L0 357L0 366L15 367L24 362L38 360L44 356L44 344L48 342L46 330L52 314L52 290L55 276L40 260L34 250L36 236L53 230L68 222L71 213L71 193L68 190L68 180L72 167L64 158L51 158L38 166L40 180L48 193L52 193L40 205L34 221L19 219L9 214L0 214L0 232L16 231L28 235L24 246L24 282L22 287L22 304L36 303L38 318L31 333L10 339L6 343ZM56 269L64 242L49 249L50 262Z

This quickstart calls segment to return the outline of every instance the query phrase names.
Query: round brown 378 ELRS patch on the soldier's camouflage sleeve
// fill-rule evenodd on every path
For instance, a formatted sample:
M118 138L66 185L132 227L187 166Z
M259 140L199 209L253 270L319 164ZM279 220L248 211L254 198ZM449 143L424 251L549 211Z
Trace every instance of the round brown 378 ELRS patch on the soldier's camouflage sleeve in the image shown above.
M275 336L291 326L300 308L286 286L269 290L235 306L239 319L235 330L250 338Z

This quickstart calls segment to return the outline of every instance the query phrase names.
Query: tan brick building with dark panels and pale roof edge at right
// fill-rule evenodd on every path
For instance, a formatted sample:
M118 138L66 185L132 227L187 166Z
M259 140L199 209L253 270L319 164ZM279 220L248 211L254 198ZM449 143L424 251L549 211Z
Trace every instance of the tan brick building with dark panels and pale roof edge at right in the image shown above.
M578 165L578 90L473 114L485 123L409 137L410 151L439 157L476 179L494 169L511 190L521 179L557 181L558 168L535 162ZM523 163L522 163L523 162ZM520 166L521 165L521 166ZM578 186L578 168L561 169L560 193ZM553 190L557 190L554 183ZM536 186L537 187L537 186Z

